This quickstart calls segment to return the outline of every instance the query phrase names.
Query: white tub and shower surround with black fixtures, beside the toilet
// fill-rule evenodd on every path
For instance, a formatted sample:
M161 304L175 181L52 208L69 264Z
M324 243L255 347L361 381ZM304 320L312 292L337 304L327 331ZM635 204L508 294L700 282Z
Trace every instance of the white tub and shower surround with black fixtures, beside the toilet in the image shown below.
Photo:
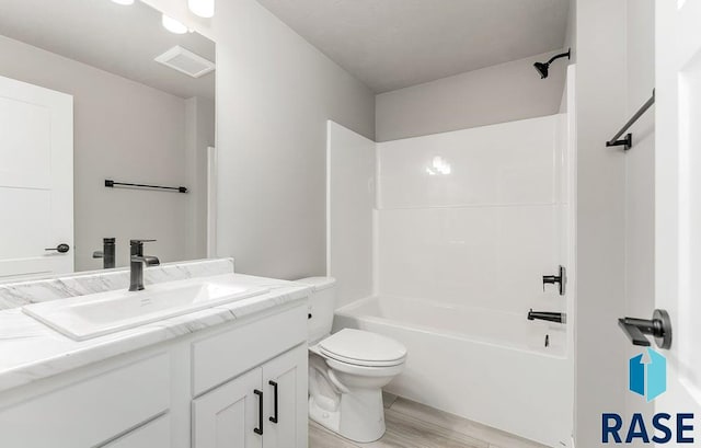
M387 391L570 446L571 118L380 143L329 123L334 329L406 346Z

